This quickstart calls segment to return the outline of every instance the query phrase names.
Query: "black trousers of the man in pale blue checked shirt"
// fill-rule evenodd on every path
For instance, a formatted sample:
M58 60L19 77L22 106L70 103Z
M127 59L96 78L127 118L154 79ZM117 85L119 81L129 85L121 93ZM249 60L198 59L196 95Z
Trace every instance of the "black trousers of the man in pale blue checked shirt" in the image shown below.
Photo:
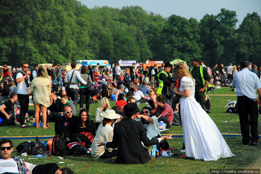
M258 142L258 103L255 99L248 97L238 98L238 113L243 144ZM249 126L251 126L249 135Z

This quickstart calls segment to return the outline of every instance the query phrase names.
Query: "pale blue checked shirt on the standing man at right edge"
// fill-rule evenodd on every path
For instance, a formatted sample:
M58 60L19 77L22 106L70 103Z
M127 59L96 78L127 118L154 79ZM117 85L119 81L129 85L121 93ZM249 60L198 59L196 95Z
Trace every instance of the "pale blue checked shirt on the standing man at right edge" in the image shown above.
M258 76L247 68L235 73L232 86L237 90L237 96L247 96L256 99L256 89L261 88Z

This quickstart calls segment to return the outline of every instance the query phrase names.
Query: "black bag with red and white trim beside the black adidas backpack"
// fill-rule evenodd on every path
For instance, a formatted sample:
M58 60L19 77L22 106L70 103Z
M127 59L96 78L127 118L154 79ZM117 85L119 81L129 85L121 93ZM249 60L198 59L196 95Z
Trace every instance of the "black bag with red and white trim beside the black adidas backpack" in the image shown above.
M73 142L67 145L68 151L71 156L84 156L90 155L90 151L87 147L82 146L78 142Z

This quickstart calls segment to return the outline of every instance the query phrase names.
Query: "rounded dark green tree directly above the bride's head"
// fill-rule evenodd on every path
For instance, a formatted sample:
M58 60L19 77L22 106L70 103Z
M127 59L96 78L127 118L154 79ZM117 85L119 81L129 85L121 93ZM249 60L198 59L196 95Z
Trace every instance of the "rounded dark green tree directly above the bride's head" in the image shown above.
M191 57L200 57L201 44L199 23L196 19L186 19L177 15L171 15L162 30L165 41L163 52L166 53L166 61L182 59L189 61Z

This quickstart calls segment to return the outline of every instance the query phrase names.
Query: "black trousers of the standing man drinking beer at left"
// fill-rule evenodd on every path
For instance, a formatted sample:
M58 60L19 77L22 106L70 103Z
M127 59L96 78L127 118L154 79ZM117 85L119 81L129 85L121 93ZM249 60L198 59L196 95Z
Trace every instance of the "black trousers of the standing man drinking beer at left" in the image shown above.
M25 115L28 111L29 106L29 94L17 94L19 104L20 104L20 121L21 125L24 124Z

